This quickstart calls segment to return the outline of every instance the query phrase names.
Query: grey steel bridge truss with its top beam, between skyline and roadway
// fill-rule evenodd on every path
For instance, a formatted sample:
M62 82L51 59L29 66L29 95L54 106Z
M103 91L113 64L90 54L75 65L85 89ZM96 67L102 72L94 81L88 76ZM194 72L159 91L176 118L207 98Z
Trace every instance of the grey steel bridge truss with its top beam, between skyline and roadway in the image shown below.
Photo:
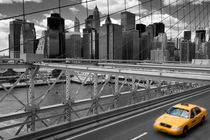
M19 65L1 66L20 68ZM9 106L4 101L13 98L17 104L16 110L19 110L0 117L1 123L10 122L10 125L2 125L0 131L15 128L15 135L66 121L73 122L111 110L117 111L118 108L204 86L210 81L208 67L199 72L197 67L191 67L190 72L187 72L187 69L178 67L164 66L165 68L159 69L143 65L117 68L104 64L96 66L35 63L22 65L23 67L25 72L19 75L19 78L11 84L12 86L0 84L5 91L0 97L2 107ZM52 78L44 76L41 72L43 69L60 71L55 78ZM28 89L26 93L21 94L24 94L27 99L22 99L14 94L14 90L25 77L28 78L28 81L25 81ZM38 87L35 87L37 77L48 83L48 88L42 93L38 93L36 90ZM58 82L63 85L63 91L55 88ZM74 82L79 83L77 88L74 87ZM83 95L84 87L88 89L87 95ZM53 94L57 94L62 100L56 104L45 104Z

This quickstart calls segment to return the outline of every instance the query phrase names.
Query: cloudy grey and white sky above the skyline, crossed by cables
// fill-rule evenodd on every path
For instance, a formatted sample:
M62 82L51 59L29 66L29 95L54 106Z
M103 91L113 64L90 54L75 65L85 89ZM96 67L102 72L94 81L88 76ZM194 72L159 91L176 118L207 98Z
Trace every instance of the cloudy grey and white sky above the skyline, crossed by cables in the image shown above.
M64 6L72 5L80 1L85 2L86 0L60 1L61 6ZM55 8L58 7L58 2L58 0L25 0L25 13ZM170 8L168 6L169 2L171 3ZM148 25L154 22L160 22L162 17L163 23L166 25L168 37L171 35L172 37L176 37L178 33L180 33L179 37L181 37L181 31L184 29L184 27L186 30L189 30L190 27L192 30L194 30L195 25L196 28L198 28L198 26L204 27L204 25L208 27L209 25L208 20L210 20L210 17L208 18L207 15L210 15L210 11L207 11L207 7L209 7L210 0L152 0L152 3L150 3L150 0L141 0L140 3L141 6L139 8L138 0L126 0L126 6L124 4L124 0L109 0L109 13L112 14L116 12L116 14L111 15L112 22L115 24L120 24L120 12L118 11L123 11L126 7L128 11L136 14L136 23L141 22ZM185 3L184 9L183 3ZM95 0L94 2L88 3L88 14L92 14L96 5L99 8L101 16L105 16L108 13L107 0ZM161 6L164 7L162 11L160 11ZM65 7L61 10L61 16L65 18L66 28L73 27L73 20L75 16L80 20L80 23L84 23L84 19L87 17L85 7L86 4L83 3L80 5ZM150 14L151 10L152 18ZM40 37L41 31L46 29L46 18L49 17L50 13L52 12L58 12L58 10L50 10L26 16L28 21L35 23L37 37ZM190 15L188 14L189 12L191 13ZM21 15L22 13L22 0L0 0L0 19ZM148 14L149 16L146 16ZM139 20L139 15L141 18L144 18ZM186 17L184 18L183 15L186 15ZM22 17L19 18L21 19ZM13 19L0 20L0 50L8 48L9 21L11 20ZM102 19L102 21L103 20L104 19ZM179 24L175 25L177 22ZM173 27L171 30L169 30L170 25ZM8 55L8 51L0 52L0 54Z

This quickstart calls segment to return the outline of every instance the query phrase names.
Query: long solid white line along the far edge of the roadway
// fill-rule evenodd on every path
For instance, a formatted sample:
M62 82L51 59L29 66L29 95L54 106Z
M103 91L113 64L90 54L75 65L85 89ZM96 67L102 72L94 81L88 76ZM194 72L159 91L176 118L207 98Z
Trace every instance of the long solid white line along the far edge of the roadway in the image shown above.
M202 95L202 94L204 94L204 93L206 93L206 92L207 92L207 91L203 91L203 92L201 92L201 93L198 93L198 94L195 94L195 95L192 95L192 96L189 96L189 97L185 97L185 98L182 98L182 99L179 99L179 100L173 101L173 102L171 102L171 103L168 103L168 104L165 104L165 105L159 106L159 107L157 107L157 108L153 108L153 109L147 110L147 111L145 111L145 112L142 112L142 113L136 114L136 115L134 115L134 116L131 116L131 117L128 117L128 118L124 118L124 119L122 119L122 120L119 120L119 121L116 121L116 122L113 122L113 123L110 123L110 124L107 124L107 125L104 125L104 126L101 126L101 127L95 128L95 129L92 129L92 130L87 131L87 132L84 132L84 133L82 133L82 134L78 134L78 135L73 136L73 137L71 137L71 138L68 138L68 139L66 139L66 140L72 140L72 139L75 139L75 138L78 138L78 137L81 137L81 136L87 135L87 134L89 134L89 133L92 133L92 132L98 131L98 130L100 130L100 129L103 129L103 128L106 128L106 127L109 127L109 126L112 126L112 125L115 125L115 124L118 124L118 123L122 123L122 122L124 122L124 121L127 121L127 120L130 120L130 119L136 118L136 117L138 117L138 116L141 116L141 115L147 114L147 113L149 113L149 112L152 112L152 111L158 110L158 109L163 108L163 107L166 107L166 106L168 106L168 105L172 105L172 104L174 104L174 103L177 103L177 102L180 102L180 101L183 101L183 100L187 100L187 99L190 99L190 98L193 98L193 97L196 97L196 96Z

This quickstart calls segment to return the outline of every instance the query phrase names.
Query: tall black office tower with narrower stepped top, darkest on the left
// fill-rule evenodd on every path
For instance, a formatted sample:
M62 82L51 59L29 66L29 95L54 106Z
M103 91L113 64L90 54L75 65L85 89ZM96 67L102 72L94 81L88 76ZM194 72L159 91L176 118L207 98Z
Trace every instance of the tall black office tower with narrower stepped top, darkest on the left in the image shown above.
M64 58L65 57L65 26L64 19L58 13L51 14L47 18L47 57Z

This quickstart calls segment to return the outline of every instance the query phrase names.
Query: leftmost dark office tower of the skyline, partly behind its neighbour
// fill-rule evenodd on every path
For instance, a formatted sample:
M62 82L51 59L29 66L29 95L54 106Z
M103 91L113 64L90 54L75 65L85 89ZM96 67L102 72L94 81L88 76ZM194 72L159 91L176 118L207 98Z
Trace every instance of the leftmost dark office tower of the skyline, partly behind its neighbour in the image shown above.
M10 58L20 58L20 34L23 22L23 20L15 19L9 24Z

